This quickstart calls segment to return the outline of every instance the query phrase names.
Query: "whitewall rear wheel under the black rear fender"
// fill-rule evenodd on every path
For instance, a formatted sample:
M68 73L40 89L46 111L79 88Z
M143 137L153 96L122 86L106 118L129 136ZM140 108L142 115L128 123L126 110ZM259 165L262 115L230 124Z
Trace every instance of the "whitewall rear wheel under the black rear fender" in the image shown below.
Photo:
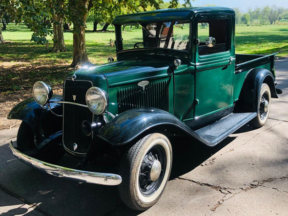
M252 126L255 128L260 128L265 125L271 106L271 92L270 88L266 83L263 83L261 86L261 91L259 94L259 103L257 116L251 120Z

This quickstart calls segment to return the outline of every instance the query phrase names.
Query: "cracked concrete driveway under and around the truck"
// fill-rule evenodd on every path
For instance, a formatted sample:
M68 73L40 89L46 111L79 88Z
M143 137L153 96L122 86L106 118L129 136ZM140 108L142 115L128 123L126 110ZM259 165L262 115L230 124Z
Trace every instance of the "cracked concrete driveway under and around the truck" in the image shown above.
M214 148L181 140L171 180L145 212L126 208L116 186L80 184L24 165L8 148L18 128L1 130L0 214L287 216L288 59L277 61L276 71L283 94L272 98L267 124L257 130L247 124Z

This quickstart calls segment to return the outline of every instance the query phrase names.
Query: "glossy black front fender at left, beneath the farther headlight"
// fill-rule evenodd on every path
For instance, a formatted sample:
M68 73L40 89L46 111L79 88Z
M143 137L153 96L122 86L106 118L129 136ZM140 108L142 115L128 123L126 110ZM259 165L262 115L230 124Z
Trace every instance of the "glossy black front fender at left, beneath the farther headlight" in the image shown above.
M62 101L62 96L54 95L51 100ZM55 113L62 115L62 104L51 103L50 106ZM26 122L33 130L38 144L52 134L62 131L62 117L53 115L49 108L41 108L34 98L28 98L13 107L8 119L19 119Z

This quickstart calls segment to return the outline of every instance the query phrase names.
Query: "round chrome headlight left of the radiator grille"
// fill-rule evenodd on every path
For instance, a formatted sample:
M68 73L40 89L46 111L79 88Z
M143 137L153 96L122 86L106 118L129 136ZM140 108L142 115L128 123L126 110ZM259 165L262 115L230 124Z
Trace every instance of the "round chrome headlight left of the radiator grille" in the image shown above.
M52 97L52 94L53 92L51 87L47 85L45 82L42 81L35 82L33 86L33 98L38 104L40 105L46 104Z

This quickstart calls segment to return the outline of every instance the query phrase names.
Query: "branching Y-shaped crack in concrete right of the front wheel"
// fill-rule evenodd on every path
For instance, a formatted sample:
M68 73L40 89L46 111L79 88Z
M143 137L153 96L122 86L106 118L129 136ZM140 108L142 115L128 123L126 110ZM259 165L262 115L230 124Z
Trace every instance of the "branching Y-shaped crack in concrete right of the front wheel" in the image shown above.
M278 179L288 179L288 176L277 177L277 178L267 178L267 179L263 179L263 180L254 180L246 188L243 188L243 187L241 187L241 188L226 188L226 187L212 185L209 183L203 183L203 182L199 182L199 181L195 181L195 180L187 179L187 178L183 178L183 177L178 177L177 179L186 180L186 181L193 182L193 183L200 185L200 186L209 187L213 190L219 191L220 193L224 194L224 196L212 208L210 208L210 210L212 211L212 213L211 213L211 215L212 215L219 206L221 206L226 200L234 197L235 195L240 194L242 192L252 190L254 188L258 188L260 186L265 187L264 184L267 182L275 181ZM277 188L272 188L272 189L276 189L277 191L279 191ZM286 191L279 191L279 192L286 192ZM286 192L286 193L288 193L288 192Z

